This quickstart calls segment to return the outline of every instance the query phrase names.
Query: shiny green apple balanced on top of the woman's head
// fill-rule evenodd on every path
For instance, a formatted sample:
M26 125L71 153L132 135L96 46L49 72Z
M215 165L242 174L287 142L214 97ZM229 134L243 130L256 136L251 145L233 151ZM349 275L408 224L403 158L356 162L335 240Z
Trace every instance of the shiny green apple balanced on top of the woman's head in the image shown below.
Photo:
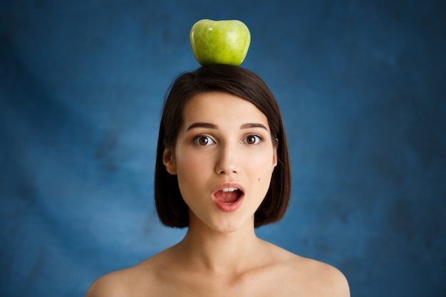
M190 44L198 63L239 66L247 56L251 33L238 20L202 19L190 30Z

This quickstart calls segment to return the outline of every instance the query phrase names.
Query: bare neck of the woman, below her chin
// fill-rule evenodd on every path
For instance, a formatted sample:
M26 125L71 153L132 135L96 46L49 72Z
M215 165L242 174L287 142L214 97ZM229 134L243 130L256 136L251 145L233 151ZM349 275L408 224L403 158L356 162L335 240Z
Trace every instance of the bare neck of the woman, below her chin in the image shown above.
M177 245L188 266L212 273L233 273L251 265L256 259L261 239L254 231L254 221L237 231L215 231L204 224L191 222L185 238Z

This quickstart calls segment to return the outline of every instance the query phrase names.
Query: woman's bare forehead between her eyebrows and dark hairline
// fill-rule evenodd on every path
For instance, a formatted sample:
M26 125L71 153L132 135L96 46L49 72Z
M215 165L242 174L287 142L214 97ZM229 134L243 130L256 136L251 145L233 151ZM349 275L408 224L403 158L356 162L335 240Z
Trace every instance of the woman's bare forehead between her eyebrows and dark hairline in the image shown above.
M199 93L187 101L183 110L185 124L195 121L241 123L259 122L268 125L259 108L236 95L221 92Z

